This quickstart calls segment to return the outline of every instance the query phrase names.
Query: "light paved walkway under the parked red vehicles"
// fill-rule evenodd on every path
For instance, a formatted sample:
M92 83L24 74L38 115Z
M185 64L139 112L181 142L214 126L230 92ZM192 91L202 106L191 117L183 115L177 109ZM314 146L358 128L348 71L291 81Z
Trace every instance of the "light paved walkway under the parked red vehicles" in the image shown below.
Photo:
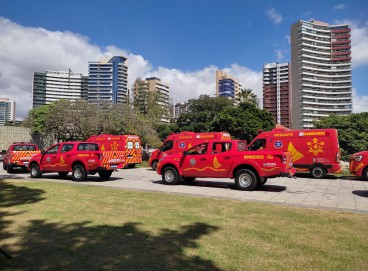
M29 173L0 172L2 179L35 180L30 178ZM64 180L55 174L44 174L39 180L74 183L71 181L70 174ZM78 184L368 214L368 182L353 177L274 178L269 179L262 188L248 192L236 190L233 180L228 179L198 179L192 184L164 185L161 182L161 176L155 171L148 168L134 168L114 172L109 181L100 182L98 176L91 176L86 182Z

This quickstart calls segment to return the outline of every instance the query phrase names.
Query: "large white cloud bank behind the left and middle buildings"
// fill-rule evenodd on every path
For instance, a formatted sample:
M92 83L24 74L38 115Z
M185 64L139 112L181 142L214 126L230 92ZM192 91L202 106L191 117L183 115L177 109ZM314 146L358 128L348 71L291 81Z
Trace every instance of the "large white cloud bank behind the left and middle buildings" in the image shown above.
M25 27L0 17L0 97L16 102L16 118L23 119L32 109L33 73L67 71L88 75L88 62L105 56L128 58L128 87L137 77L156 76L170 85L173 102L215 95L215 73L220 69L208 66L191 72L153 67L143 56L116 46L99 47L88 37L72 32L49 31ZM243 87L251 88L262 98L262 74L232 64L222 70L238 78Z

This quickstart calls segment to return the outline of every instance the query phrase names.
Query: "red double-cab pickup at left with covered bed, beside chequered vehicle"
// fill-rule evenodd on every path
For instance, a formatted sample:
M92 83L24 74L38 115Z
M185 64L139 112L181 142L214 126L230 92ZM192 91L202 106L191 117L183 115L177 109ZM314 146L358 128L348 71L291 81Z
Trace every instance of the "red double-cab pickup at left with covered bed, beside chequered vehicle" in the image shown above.
M72 172L73 181L83 181L88 174L98 173L101 179L110 178L117 165L103 166L102 152L94 142L61 142L46 151L32 156L28 169L32 178L40 178L43 173L57 172L66 177Z

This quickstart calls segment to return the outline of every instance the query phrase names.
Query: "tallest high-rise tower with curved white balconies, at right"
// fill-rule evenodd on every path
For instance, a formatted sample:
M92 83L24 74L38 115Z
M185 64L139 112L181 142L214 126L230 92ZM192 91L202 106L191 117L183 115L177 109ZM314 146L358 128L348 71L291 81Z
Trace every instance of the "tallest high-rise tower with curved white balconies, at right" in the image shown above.
M349 25L298 21L291 26L292 128L352 113Z

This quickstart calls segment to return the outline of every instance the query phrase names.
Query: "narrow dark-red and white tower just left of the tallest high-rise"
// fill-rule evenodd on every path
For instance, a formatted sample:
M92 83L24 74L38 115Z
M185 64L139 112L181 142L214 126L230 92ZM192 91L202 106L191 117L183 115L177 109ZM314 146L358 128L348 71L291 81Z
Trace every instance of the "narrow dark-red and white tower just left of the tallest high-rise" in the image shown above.
M263 109L270 112L277 124L290 128L289 63L268 63L263 66Z

